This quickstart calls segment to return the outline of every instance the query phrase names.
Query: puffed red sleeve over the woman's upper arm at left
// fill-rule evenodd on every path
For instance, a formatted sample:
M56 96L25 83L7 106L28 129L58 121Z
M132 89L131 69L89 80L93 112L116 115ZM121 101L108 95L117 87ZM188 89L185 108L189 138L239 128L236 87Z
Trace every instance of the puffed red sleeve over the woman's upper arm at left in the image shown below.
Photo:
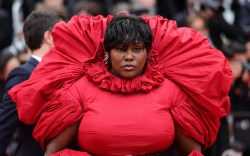
M77 91L75 91L77 92ZM77 94L63 91L57 98L44 105L36 127L33 131L34 138L45 150L48 140L57 136L65 127L82 119L83 108ZM76 132L77 133L77 132Z

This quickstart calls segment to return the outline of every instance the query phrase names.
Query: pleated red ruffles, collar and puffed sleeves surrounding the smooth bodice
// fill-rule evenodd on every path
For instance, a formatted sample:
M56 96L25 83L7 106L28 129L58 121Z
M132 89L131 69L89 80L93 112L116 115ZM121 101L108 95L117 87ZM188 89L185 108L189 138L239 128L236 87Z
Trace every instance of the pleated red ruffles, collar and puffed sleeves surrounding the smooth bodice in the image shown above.
M55 47L29 80L9 91L20 120L37 123L34 137L43 148L44 142L82 119L82 104L65 94L82 77L104 91L128 94L150 93L169 79L190 97L171 109L174 121L204 149L215 141L219 118L230 109L228 91L233 79L227 59L192 29L178 28L161 16L142 18L154 38L146 72L132 80L110 74L103 64L103 35L112 16L80 15L56 25L52 32Z

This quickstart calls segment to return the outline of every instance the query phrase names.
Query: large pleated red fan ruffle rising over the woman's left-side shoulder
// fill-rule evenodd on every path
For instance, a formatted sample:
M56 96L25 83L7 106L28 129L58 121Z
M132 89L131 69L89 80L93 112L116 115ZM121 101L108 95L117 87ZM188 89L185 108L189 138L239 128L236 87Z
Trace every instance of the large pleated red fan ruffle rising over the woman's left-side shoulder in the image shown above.
M55 47L43 57L28 81L9 91L21 121L37 122L51 100L84 76L83 64L104 53L103 35L110 18L81 15L55 26Z

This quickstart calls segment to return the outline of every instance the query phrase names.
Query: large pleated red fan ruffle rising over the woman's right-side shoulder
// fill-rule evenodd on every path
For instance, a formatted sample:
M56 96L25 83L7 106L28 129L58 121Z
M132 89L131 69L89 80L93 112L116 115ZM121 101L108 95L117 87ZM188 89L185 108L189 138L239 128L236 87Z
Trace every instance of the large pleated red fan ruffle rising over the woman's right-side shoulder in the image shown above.
M233 81L223 53L208 39L160 16L146 18L153 30L152 55L168 79L183 89L199 106L216 117L229 112L228 92Z

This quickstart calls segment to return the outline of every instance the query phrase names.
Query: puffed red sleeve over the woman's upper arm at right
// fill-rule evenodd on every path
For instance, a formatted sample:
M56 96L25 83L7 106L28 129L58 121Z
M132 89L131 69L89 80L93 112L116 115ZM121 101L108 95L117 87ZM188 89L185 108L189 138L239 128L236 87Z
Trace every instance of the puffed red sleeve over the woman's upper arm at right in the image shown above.
M195 104L185 94L182 95L176 106L170 110L174 123L186 136L201 143L205 150L217 138L220 119L205 110L200 104Z

